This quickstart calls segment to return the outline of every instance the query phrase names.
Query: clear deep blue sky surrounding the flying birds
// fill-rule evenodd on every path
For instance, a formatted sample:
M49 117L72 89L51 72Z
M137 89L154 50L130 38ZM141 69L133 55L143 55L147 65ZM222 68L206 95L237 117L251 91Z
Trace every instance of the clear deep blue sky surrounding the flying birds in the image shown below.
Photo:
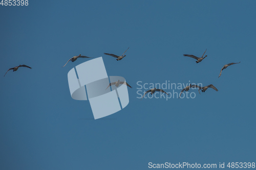
M255 162L255 1L30 1L0 6L0 169L148 169ZM103 53L126 57L116 61ZM193 54L202 62L184 57ZM133 86L94 120L67 74L102 57ZM230 62L240 64L223 65ZM19 68L5 72L19 64ZM138 99L137 82L214 84L195 99ZM176 92L181 90L176 89ZM166 89L173 92L173 89ZM227 167L225 167L226 169Z

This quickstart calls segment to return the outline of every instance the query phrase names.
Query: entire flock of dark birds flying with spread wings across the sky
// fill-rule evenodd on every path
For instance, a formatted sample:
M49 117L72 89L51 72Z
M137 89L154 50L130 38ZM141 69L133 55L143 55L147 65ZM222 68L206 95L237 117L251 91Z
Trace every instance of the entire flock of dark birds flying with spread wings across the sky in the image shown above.
M127 50L128 50L128 49L129 49L129 47L127 48ZM126 50L126 51L127 51L127 50ZM207 49L206 49L206 50L207 50ZM205 52L206 52L206 50L205 50ZM126 51L125 51L125 52L126 52ZM125 52L124 52L124 53L125 53ZM204 54L205 54L205 52L204 52ZM119 60L122 60L122 59L126 56L126 55L124 55L124 53L123 53L121 56L117 56L117 55L115 55L115 54L109 54L109 53L104 53L104 54L105 54L105 55L112 56L112 57L115 57L115 58L117 58L116 60L119 61ZM188 54L184 54L183 56L194 58L194 59L197 60L196 63L200 63L201 61L203 61L203 59L204 59L205 57L207 57L207 55L205 55L205 57L204 57L204 54L203 54L202 57L196 57L196 56L194 56L194 55L188 55ZM76 61L78 58L93 58L93 57L87 57L87 56L81 56L81 55L79 55L79 56L74 56L74 57L72 57L71 59L68 60L68 62L69 62L69 61L74 62L74 61ZM68 62L67 62L65 65L63 65L62 67L66 66L66 65L68 64ZM240 62L239 62L239 63L240 63ZM229 64L225 64L225 65L221 68L221 72L220 72L219 77L221 76L221 73L222 73L222 70L223 70L223 69L226 69L228 66L233 65L233 64L238 64L238 63L229 63ZM7 74L7 72L8 72L9 70L17 71L19 67L27 67L27 68L32 69L31 67L29 67L29 66L27 66L27 65L19 65L19 66L13 67L13 68L9 68L9 69L6 71L6 74ZM5 74L5 75L6 75L6 74ZM5 77L5 75L4 75L4 77ZM115 85L116 87L118 87L120 84L124 84L124 85L126 85L126 86L128 86L128 87L131 87L128 83L126 83L126 82L120 82L120 81L118 80L117 82L110 83L109 86L108 86L106 89L108 89L108 88L109 88L110 86L112 86L112 85ZM131 87L131 88L132 88L132 87ZM208 85L208 86L204 86L204 87L201 87L201 86L198 86L198 85L191 85L191 84L190 84L189 86L186 86L185 88L183 88L183 89L181 90L180 96L181 96L181 94L183 93L183 91L188 91L190 88L198 88L199 93L200 93L200 90L201 90L202 92L205 92L208 88L212 88L212 89L218 91L218 89L217 89L214 85L212 85L212 84L210 84L210 85ZM166 92L165 92L164 90L162 90L162 89L152 88L152 89L150 89L150 90L147 90L147 91L144 93L144 95L147 94L147 93L149 93L149 92L150 92L151 94L154 94L156 91L160 91L160 92L166 93ZM168 93L166 93L166 94L169 95ZM144 95L142 96L141 100L143 99ZM180 98L180 96L179 96L179 98Z

